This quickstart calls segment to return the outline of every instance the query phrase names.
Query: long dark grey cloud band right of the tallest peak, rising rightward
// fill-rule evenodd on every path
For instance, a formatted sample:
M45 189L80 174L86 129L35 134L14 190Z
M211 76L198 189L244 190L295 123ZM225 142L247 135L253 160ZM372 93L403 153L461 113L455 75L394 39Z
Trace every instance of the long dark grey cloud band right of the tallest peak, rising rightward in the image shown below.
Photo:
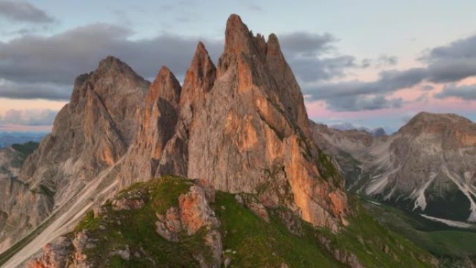
M396 63L397 59L388 56L379 57L386 64ZM377 61L378 61L377 60ZM395 61L394 61L395 60ZM400 102L384 101L385 97L372 98L369 95L390 95L403 88L411 88L422 82L447 84L461 81L467 77L476 75L476 36L457 40L449 45L435 47L425 52L420 58L426 63L422 68L410 68L407 70L392 70L379 73L376 81L346 81L341 83L317 83L304 84L304 92L310 100L324 100L330 109L340 111L344 108L340 103L349 105L349 111L354 108L378 109L376 107L398 107ZM370 67L371 60L364 60L363 67ZM423 85L422 91L434 89L433 86ZM421 95L416 101L425 101L427 95ZM476 85L445 86L442 93L435 97L459 97L464 100L476 100ZM367 103L374 100L372 103ZM386 100L386 99L385 99ZM395 101L395 100L394 100ZM375 105L373 105L375 104Z

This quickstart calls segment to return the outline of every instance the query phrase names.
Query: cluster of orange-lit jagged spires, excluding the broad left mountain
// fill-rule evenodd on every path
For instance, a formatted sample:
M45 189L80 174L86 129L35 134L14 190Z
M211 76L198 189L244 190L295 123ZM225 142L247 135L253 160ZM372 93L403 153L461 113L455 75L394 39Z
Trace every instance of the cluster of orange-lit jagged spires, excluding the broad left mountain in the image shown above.
M182 88L170 71L159 72L140 122L121 187L172 173L260 194L317 226L337 228L347 213L344 182L310 140L278 38L253 36L237 15L228 19L218 68L200 42Z

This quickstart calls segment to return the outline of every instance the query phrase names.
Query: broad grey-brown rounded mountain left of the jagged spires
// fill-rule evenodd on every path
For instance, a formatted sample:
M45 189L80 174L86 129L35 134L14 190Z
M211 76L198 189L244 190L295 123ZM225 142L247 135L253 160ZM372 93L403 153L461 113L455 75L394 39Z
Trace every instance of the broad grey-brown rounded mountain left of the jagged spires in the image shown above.
M6 224L15 230L0 241L18 239L38 226L125 154L138 126L136 109L148 86L148 81L113 57L74 81L71 102L58 113L51 134L19 172L17 180L24 187L6 211Z

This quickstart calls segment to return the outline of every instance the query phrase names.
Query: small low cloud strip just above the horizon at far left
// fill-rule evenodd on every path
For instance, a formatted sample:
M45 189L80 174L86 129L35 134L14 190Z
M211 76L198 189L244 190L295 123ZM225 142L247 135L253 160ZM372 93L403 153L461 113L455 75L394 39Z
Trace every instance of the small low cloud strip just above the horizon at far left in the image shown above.
M49 109L11 109L0 115L0 125L53 125L56 113Z

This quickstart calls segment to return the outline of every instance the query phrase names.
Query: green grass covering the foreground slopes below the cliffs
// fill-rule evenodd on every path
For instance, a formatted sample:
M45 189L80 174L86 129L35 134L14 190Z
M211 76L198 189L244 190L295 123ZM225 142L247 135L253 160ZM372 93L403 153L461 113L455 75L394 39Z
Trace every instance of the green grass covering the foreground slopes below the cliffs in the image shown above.
M121 194L145 189L150 197L140 210L114 211L109 203L97 218L88 213L74 231L87 229L88 236L95 239L97 246L86 249L88 258L95 260L97 267L200 267L193 255L207 255L202 232L169 242L157 235L154 224L156 213L177 205L177 197L187 192L191 183L166 176L135 184ZM350 219L348 227L334 233L314 228L297 216L289 218L292 213L285 208L268 210L268 223L228 193L217 192L212 208L221 221L223 260L230 259L228 267L349 267L351 263L379 268L433 267L429 253L380 226L363 209ZM289 228L289 221L296 230ZM129 260L110 254L126 245Z

